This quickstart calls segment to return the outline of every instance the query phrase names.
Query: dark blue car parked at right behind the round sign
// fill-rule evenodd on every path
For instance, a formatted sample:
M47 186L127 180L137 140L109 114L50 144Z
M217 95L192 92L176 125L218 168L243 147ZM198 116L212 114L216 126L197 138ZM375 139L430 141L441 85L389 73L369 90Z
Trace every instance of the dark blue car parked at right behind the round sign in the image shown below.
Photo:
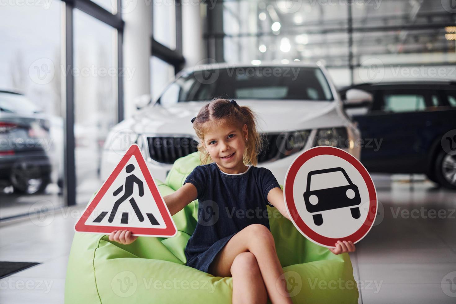
M344 106L358 122L361 162L369 172L424 173L456 189L456 153L442 147L443 139L456 150L456 137L443 138L456 132L455 82L364 83L341 90L342 100L350 89L372 94L371 101Z

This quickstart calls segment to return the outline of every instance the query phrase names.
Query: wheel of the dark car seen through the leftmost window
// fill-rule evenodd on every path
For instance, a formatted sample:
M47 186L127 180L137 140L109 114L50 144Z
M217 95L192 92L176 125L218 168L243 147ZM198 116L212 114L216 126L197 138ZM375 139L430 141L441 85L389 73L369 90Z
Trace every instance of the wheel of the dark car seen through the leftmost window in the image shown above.
M43 192L51 178L39 165L18 162L11 169L10 180L15 192L35 194Z

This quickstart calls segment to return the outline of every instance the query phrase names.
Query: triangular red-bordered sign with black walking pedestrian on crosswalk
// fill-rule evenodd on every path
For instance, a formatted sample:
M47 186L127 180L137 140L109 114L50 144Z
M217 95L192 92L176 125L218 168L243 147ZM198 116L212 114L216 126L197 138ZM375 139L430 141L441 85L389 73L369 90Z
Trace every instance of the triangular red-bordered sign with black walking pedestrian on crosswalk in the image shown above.
M74 229L105 234L127 229L146 237L176 235L176 225L137 144L130 146Z

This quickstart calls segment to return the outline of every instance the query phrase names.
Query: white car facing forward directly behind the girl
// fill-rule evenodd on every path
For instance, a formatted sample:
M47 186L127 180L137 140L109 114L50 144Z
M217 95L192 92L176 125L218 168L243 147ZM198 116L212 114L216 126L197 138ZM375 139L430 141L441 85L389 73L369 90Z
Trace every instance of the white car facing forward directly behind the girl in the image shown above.
M101 177L114 170L130 144L142 147L150 172L165 181L179 157L197 151L191 119L214 97L234 99L259 117L267 146L258 167L280 184L296 153L316 145L340 147L356 158L360 133L345 115L324 67L287 65L204 65L181 71L161 97L110 131L102 155Z

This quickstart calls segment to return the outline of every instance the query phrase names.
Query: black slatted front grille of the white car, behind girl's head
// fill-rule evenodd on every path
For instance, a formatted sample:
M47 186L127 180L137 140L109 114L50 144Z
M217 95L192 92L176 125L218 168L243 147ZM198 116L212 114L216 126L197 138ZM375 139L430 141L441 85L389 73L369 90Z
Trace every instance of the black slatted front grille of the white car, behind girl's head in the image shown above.
M304 132L304 133L303 133ZM304 148L309 131L301 132L298 144L293 149L287 149L287 140L290 143L290 136L295 139L293 133L268 133L261 134L264 141L263 150L258 155L258 162L276 160L288 155L294 154ZM149 154L152 160L163 164L174 164L174 162L183 156L197 152L198 142L192 137L173 137L173 136L154 136L147 137Z

